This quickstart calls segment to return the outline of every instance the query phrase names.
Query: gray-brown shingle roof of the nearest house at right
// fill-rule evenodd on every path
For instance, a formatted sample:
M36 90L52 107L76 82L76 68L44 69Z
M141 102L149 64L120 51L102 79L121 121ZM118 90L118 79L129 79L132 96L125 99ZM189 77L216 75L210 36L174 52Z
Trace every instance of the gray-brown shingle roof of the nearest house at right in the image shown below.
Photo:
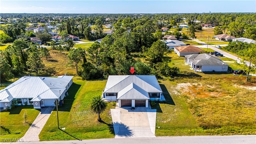
M195 65L211 65L211 66L228 66L225 62L222 62L220 58L211 56L209 54L190 54L186 55Z

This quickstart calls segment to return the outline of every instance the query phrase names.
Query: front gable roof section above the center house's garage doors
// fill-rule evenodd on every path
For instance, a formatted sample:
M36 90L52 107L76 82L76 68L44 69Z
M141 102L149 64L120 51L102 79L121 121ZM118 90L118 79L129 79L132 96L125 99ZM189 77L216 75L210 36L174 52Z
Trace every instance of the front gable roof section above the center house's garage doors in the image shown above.
M118 100L127 99L149 99L148 92L140 88L134 83L129 84L120 92L118 92Z

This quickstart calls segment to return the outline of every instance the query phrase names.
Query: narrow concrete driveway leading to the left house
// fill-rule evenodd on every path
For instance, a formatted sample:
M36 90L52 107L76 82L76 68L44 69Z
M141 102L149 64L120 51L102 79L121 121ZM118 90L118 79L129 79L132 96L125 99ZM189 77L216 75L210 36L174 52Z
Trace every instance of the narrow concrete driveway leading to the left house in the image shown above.
M23 139L24 142L39 141L38 135L50 117L52 110L54 110L54 107L42 108L41 112L38 114L32 125L28 128L26 134L20 139Z

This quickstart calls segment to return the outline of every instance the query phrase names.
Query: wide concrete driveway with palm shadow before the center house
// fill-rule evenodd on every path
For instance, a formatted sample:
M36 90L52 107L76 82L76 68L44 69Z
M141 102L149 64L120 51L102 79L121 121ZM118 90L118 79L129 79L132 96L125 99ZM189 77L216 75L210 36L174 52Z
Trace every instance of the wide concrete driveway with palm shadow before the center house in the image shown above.
M115 138L154 138L156 109L116 107L111 109Z

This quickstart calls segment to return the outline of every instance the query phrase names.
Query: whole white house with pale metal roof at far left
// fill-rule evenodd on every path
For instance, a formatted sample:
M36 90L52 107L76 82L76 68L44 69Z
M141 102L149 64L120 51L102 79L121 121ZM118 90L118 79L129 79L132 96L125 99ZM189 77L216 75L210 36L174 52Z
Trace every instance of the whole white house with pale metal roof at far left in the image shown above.
M23 76L16 82L0 90L0 107L10 107L13 100L18 105L33 105L35 109L55 106L54 102L68 95L73 76L40 77Z

